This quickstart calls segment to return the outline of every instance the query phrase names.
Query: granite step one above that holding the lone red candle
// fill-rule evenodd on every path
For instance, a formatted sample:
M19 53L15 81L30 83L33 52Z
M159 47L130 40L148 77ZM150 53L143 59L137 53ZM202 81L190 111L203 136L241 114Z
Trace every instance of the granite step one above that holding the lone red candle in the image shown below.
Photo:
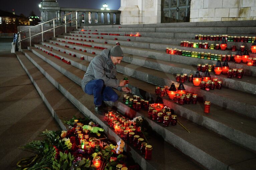
M52 40L50 40L50 42L51 41ZM46 44L46 42L42 42L42 44L45 44L56 50L61 50L61 52L66 51L67 54L68 53L71 53L72 55L75 54L76 57L78 58L81 56L85 56L83 52L72 49L73 47L77 48L77 46L72 44L69 45L70 48L64 48L63 46L61 46L67 43L59 42L60 45L55 45L51 43ZM81 50L84 50L84 49L87 50L87 53L96 52L96 54L99 54L101 52L101 50L97 50L89 47L88 48L82 47ZM88 61L91 60L90 57L88 59L89 59ZM86 60L86 57L85 57L85 60ZM133 64L125 63L125 62L122 62L120 65L117 66L117 71L121 73L125 73L132 77L139 78L141 80L144 80L145 82L149 82L157 86L170 85L171 83L175 83L178 86L178 83L176 82L176 79L175 79L175 75L173 74L163 73L161 71L140 67L140 66L136 66ZM205 100L209 100L212 103L215 103L222 108L230 109L230 110L239 112L241 114L247 115L249 117L256 118L256 115L255 115L256 105L254 102L255 95L243 93L243 92L233 90L230 88L225 88L225 87L222 88L221 90L215 89L215 90L205 91L205 90L201 90L199 87L193 86L191 83L185 83L184 85L188 91L193 91L197 93L199 96L204 96ZM244 96L244 97L241 97L241 96Z

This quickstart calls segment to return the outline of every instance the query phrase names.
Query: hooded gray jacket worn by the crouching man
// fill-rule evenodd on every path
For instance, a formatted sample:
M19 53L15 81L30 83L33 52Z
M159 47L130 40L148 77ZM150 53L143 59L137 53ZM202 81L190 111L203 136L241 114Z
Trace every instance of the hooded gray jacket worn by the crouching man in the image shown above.
M102 79L104 85L121 91L120 81L116 79L116 66L113 64L109 52L109 49L104 49L100 55L91 60L81 83L83 91L89 81L98 79Z

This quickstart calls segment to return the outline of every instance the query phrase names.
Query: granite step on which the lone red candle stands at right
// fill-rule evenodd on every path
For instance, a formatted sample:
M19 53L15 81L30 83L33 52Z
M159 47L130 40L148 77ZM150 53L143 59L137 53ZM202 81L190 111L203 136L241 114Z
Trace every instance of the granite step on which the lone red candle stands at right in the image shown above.
M42 45L35 45L39 49L43 50L52 50L48 47L44 47ZM88 61L81 62L79 61L78 58L70 57L67 54L63 54L61 52L58 52L56 50L51 51L52 54L61 56L65 60L69 60L71 62L71 65L73 65L76 68L79 68L83 71L87 70L87 67L89 65ZM88 60L88 58L92 58L90 56L85 56L85 58ZM91 60L91 59L90 59ZM53 60L54 62L54 60ZM56 66L57 67L57 66ZM119 75L118 75L119 76ZM127 75L125 75L127 76ZM82 78L82 76L80 76ZM119 78L120 77L120 78ZM122 76L119 76L119 79L123 79ZM77 80L76 76L73 76L72 80ZM129 77L129 80L131 80L132 86L131 89L133 89L133 94L142 96L143 98L152 100L155 100L155 95L154 95L154 85L143 82L141 80L138 80L136 78ZM146 85L145 85L146 84ZM131 85L131 84L129 84ZM138 85L141 85L138 87ZM164 102L166 105L170 105L171 108L177 108L175 110L184 110L184 107L186 106L180 106L178 104L175 104L171 102L169 99L164 98ZM178 113L179 115L187 118L188 120L191 120L194 123L197 123L201 126L204 126L210 130L215 131L216 133L225 136L229 140L232 140L244 147L247 147L252 150L256 150L255 148L255 143L256 143L256 138L253 137L256 134L251 133L252 128L255 126L256 121L247 118L244 116L241 116L240 114L237 114L233 111L226 110L226 109L220 109L218 106L212 106L214 107L213 109L215 110L213 113L213 117L209 118L209 116L205 115L203 113L203 108L199 106L199 108L195 108L194 106L189 107L188 109L185 109L183 112ZM192 115L192 116L191 116ZM217 115L217 117L215 117ZM205 116L205 117L204 117ZM232 120L232 121L230 121ZM240 124L240 121L242 122L241 126L237 126L237 124ZM207 122L207 123L205 123ZM248 125L247 127L244 126L244 124ZM237 129L234 129L234 127L237 127ZM241 137L243 136L243 137Z

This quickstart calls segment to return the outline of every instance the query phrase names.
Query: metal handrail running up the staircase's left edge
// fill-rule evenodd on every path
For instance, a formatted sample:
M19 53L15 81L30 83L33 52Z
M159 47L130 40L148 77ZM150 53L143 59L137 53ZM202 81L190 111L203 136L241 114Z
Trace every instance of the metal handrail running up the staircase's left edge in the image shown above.
M55 20L58 19L58 18L61 18L61 17L63 17L63 16L56 17L56 18L54 18L54 19L52 19L52 20L49 20L49 21L43 22L43 23L41 23L41 24L35 25L35 26L33 26L33 27L24 29L24 30L29 30L29 37L26 37L26 38L24 38L24 39L22 39L22 40L21 40L20 33L21 33L22 31L24 31L24 30L19 31L19 32L18 32L18 36L19 36L19 37L18 37L18 38L19 38L19 41L18 41L18 48L19 48L19 46L20 46L20 42L21 42L21 41L24 41L24 40L27 40L27 39L29 39L30 46L31 46L31 38L32 38L32 37L35 37L35 36L38 36L38 35L40 35L40 34L42 35L42 42L43 42L43 33L47 32L47 31L53 30L53 37L55 37L55 28L61 27L61 26L63 26L63 25L65 25L65 33L66 33L66 32L67 32L67 24L74 22L74 21L69 21L69 22L67 22L67 21L66 21L66 16L67 16L67 15L71 15L72 13L75 13L75 14L76 14L74 21L76 22L75 25L76 25L76 29L77 29L78 11L70 12L70 13L64 15L64 21L65 21L65 23L62 24L62 25L59 25L59 26L57 26L57 27L55 27ZM50 28L50 29L48 29L48 30L43 31L43 24L48 23L48 22L51 22L51 21L53 21L53 28ZM40 25L41 25L41 32L31 36L31 28L34 28L34 27L40 26Z

